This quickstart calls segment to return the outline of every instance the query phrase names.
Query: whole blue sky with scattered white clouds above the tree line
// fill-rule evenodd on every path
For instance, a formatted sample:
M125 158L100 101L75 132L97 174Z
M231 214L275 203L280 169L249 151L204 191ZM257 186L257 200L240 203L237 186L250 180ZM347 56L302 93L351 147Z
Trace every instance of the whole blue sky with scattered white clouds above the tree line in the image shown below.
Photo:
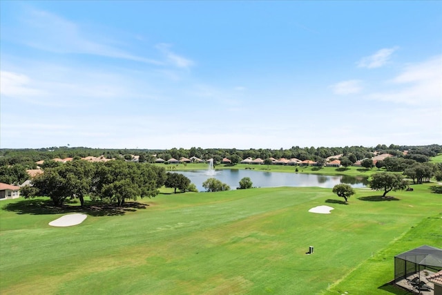
M442 144L442 1L0 1L0 147Z

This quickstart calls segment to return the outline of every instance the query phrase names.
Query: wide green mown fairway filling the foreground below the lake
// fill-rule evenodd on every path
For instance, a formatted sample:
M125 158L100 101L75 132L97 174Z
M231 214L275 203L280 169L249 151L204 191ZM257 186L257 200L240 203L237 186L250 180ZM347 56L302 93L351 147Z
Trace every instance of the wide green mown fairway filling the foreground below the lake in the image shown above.
M359 189L348 205L320 188L160 195L66 228L48 225L62 213L2 201L0 293L392 294L378 288L394 254L442 246L442 195L429 187L390 201ZM323 204L335 209L308 212Z

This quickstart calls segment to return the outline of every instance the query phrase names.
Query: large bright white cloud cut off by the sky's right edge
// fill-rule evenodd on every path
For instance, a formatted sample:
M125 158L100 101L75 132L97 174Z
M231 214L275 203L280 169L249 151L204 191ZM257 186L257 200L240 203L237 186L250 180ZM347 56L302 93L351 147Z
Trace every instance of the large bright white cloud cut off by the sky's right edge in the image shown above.
M390 90L372 93L368 98L398 104L441 104L442 56L406 66L387 86Z

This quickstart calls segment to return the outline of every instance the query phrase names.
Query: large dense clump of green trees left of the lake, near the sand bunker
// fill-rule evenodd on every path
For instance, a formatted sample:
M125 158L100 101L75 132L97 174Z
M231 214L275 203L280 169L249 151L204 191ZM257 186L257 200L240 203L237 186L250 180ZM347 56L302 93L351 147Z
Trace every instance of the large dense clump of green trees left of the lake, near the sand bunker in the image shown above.
M84 196L92 196L119 206L126 199L153 197L157 187L164 184L165 170L149 164L109 161L87 162L73 160L53 168L32 180L33 187L24 187L25 198L48 196L56 206L67 198L78 198L84 205Z

